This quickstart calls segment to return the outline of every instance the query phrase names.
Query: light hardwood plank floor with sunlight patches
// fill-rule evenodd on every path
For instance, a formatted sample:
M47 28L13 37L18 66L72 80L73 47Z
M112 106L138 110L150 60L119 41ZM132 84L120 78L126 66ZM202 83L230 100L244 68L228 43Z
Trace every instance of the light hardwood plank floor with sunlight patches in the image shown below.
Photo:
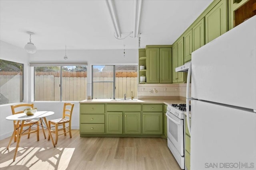
M16 160L16 143L0 141L1 170L180 170L161 138L80 137L79 130L60 136L56 148L36 134L22 136Z

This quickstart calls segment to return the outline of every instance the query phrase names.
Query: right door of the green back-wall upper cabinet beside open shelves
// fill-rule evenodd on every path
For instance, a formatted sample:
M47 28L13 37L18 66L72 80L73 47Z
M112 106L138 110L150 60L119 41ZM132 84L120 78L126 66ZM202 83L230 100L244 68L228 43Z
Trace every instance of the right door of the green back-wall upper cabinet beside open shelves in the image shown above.
M172 83L171 48L160 48L160 83Z

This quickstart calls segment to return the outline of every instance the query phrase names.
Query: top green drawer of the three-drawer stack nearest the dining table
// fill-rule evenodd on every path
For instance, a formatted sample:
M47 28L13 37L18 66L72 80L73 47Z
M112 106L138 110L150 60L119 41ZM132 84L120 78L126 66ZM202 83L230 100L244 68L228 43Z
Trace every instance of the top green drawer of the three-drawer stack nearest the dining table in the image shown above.
M105 113L105 104L80 104L80 113Z

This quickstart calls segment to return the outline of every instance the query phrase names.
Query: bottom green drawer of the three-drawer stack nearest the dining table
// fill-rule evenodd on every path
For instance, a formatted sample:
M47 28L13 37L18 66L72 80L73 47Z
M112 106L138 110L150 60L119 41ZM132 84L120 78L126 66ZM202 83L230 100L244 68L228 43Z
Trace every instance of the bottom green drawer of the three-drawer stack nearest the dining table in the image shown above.
M80 124L80 133L105 133L105 124Z

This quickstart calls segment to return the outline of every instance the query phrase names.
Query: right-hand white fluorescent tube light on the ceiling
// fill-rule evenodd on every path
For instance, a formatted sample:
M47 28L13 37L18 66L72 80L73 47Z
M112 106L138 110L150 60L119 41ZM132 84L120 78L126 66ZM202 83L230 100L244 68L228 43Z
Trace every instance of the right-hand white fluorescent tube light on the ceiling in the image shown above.
M142 0L134 0L134 27L133 37L137 38L140 29L140 14L141 14Z

